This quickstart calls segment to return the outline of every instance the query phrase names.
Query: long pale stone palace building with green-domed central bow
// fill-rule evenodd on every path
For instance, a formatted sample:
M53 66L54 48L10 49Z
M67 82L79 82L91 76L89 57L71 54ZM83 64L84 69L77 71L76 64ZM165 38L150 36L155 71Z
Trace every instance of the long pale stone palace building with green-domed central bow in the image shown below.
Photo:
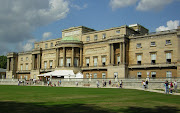
M180 77L180 28L148 33L139 24L100 31L71 27L62 38L7 55L7 78L38 79L54 70L80 71L84 78Z

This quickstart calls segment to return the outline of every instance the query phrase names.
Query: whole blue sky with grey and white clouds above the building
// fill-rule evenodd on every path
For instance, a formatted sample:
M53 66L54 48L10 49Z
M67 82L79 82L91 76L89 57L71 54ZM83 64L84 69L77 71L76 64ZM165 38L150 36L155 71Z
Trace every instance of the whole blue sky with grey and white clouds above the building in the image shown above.
M61 38L69 27L176 29L179 11L180 0L0 0L0 55L31 51L34 42Z

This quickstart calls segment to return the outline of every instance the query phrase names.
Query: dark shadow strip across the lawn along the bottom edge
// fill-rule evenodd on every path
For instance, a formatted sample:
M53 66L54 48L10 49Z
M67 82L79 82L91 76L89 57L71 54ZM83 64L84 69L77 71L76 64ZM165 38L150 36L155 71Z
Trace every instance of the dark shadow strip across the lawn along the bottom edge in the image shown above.
M0 102L0 113L179 113L176 107L128 107L111 111L89 104L43 105L45 103ZM112 108L111 108L112 109Z

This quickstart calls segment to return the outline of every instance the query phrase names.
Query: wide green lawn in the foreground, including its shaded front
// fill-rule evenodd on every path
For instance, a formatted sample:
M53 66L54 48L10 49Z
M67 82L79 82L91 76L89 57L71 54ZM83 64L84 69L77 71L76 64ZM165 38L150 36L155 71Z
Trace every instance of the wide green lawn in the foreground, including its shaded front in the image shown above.
M0 113L178 113L180 96L108 88L0 86Z

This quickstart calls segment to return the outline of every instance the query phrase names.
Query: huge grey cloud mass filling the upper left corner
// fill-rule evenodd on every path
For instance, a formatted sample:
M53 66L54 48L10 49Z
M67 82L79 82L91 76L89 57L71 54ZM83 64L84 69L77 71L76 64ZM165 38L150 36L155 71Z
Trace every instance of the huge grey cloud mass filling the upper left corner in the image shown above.
M0 0L0 54L18 51L19 43L33 39L32 32L54 21L63 19L69 12L67 0ZM26 48L24 47L24 48Z

